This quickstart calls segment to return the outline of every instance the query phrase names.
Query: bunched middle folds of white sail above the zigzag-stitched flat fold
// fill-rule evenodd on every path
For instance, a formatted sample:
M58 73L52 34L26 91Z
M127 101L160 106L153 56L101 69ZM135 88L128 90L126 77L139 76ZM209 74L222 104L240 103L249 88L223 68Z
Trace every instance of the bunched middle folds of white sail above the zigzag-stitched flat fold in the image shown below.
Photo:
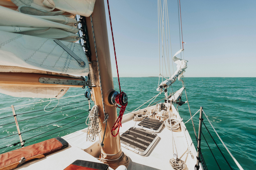
M23 14L0 6L0 30L76 42L79 31L74 25L77 21L66 16L35 16Z

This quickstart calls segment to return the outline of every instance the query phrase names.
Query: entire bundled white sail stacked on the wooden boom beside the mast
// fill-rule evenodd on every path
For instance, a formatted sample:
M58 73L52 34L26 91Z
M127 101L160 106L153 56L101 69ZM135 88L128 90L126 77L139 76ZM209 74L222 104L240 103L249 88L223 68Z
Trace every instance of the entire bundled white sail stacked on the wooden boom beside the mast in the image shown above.
M95 0L0 1L0 72L46 72L87 76L89 74L87 57L82 46L75 43L79 37L75 15L89 17L93 12L94 3ZM62 46L54 41L56 39ZM81 66L77 58L82 60L85 66ZM38 92L38 87L35 88ZM47 88L46 91L51 90ZM11 90L3 86L2 89ZM33 91L31 87L27 90L23 87L23 90ZM52 91L60 90L52 89ZM0 92L2 92L1 87ZM54 93L52 96L57 95ZM37 97L50 97L50 95Z

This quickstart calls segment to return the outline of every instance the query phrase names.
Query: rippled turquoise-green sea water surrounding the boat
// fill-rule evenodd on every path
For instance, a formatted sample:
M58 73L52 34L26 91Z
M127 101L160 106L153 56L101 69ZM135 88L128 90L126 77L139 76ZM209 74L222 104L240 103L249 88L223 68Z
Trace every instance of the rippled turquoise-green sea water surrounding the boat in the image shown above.
M158 94L156 91L158 77L121 77L120 83L122 91L128 95L126 110L129 112ZM241 166L248 170L256 169L256 78L188 77L185 78L185 85L192 115L202 106L209 120ZM114 87L118 90L117 78L114 78ZM168 88L168 93L175 92L181 87L182 83L177 81L172 88ZM70 88L64 97L80 95L84 91L82 88ZM49 99L15 98L4 94L0 94L0 97L0 109L14 105L25 146L52 137L64 136L87 127L85 122L89 106L88 100L83 95L60 99L59 105L51 112L43 110L49 102L42 101ZM154 102L163 98L164 94L161 94ZM182 100L186 101L185 93ZM25 105L35 102L42 103ZM52 101L46 109L55 107L57 103L58 100ZM91 104L93 105L92 102ZM146 107L148 104L144 106ZM52 109L46 111L50 110ZM178 110L184 122L190 119L187 104L178 107ZM199 114L193 119L197 133L198 117ZM238 169L206 118L204 123L232 169ZM191 121L186 124L186 127L196 146ZM230 169L204 126L202 132L220 168ZM17 142L19 142L19 137L12 110L11 108L2 109L0 110L0 153L20 148L20 144L12 145ZM219 169L203 137L201 147L207 168L209 170Z

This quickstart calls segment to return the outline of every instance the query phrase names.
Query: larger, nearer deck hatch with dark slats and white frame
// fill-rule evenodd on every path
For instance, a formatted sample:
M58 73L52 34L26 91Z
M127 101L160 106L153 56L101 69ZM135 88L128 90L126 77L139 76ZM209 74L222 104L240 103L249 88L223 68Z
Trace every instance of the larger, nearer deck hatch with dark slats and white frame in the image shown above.
M120 136L121 146L140 155L145 155L157 138L157 134L135 127L129 128Z

